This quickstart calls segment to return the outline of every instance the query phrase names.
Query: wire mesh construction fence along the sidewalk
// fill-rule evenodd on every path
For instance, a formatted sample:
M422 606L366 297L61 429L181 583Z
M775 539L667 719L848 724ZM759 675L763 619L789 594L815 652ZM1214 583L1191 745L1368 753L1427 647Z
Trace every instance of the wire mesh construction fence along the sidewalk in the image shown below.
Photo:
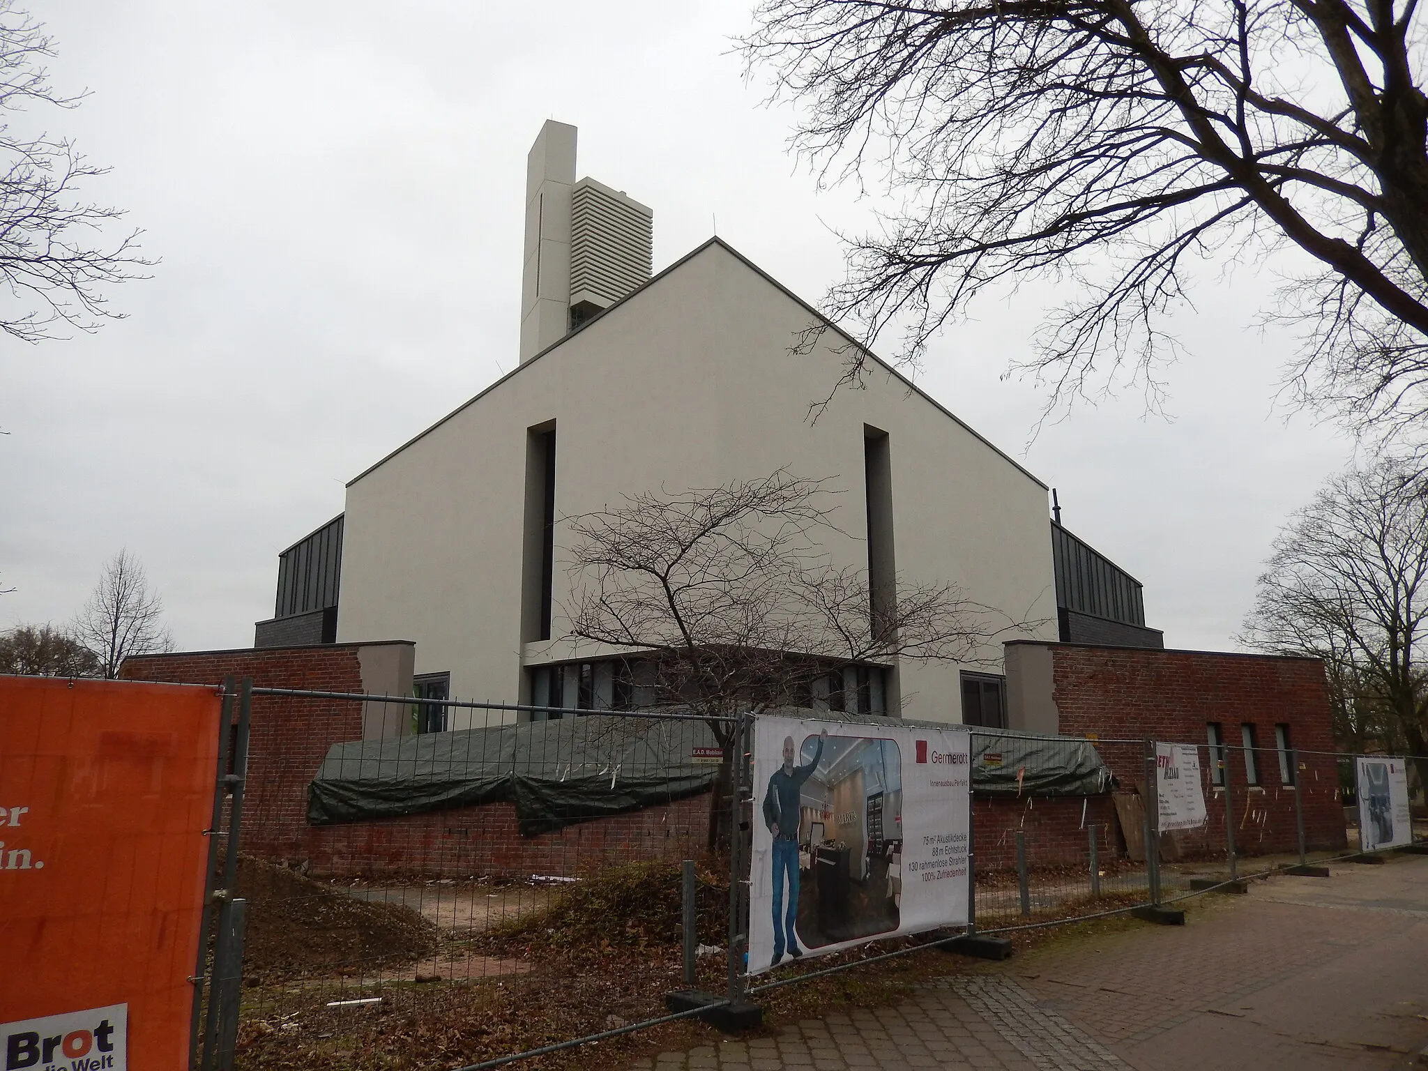
M224 690L204 1071L494 1067L681 1017L738 1021L760 992L827 971L928 945L998 955L1017 930L1117 912L1174 921L1187 897L1412 840L1405 778L1364 788L1378 773L1362 757L967 728L967 865L947 883L965 917L898 934L912 755L894 773L885 748L828 745L797 838L784 833L797 875L781 910L790 941L820 932L843 951L751 974L754 827L770 814L755 717ZM875 720L815 717L875 735ZM857 930L868 918L891 922ZM877 925L891 937L844 948Z

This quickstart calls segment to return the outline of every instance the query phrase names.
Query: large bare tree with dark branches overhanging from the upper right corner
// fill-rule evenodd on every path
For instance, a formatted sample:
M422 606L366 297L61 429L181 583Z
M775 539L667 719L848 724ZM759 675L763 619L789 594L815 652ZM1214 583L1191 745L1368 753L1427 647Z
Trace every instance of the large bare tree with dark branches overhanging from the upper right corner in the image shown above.
M830 296L865 341L897 326L915 360L984 288L1050 280L1074 294L1031 363L1051 404L1154 393L1197 261L1289 247L1287 384L1421 431L1424 39L1417 0L761 0L744 54L805 104L825 180L902 196Z

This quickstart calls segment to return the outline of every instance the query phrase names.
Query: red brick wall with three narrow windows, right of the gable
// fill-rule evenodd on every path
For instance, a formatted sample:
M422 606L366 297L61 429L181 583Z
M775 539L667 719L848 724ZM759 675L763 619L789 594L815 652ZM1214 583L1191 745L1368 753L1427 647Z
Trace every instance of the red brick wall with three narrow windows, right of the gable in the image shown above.
M1311 848L1342 848L1344 810L1335 758L1299 755L1299 788L1279 777L1274 728L1289 725L1302 751L1334 751L1324 664L1315 658L1155 651L1051 644L1054 698L1065 735L1095 734L1097 750L1124 787L1144 780L1145 737L1200 745L1208 768L1205 723L1218 721L1225 744L1240 744L1240 727L1255 727L1259 787L1245 783L1244 753L1227 751L1235 847L1242 854L1295 848L1294 797L1299 793ZM1191 854L1222 854L1224 790L1207 795L1204 831L1180 834Z

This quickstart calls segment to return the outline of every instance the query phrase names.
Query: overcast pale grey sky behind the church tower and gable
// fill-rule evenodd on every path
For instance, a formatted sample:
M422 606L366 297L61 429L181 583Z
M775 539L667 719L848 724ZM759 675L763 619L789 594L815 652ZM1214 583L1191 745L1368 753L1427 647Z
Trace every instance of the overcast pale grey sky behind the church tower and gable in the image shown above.
M516 364L526 151L545 119L580 127L581 174L654 208L657 270L717 220L817 303L843 273L830 228L888 206L820 193L788 156L794 114L763 107L730 54L750 1L40 10L57 87L93 91L47 126L113 167L90 193L129 208L161 263L113 291L129 318L96 336L0 343L0 587L17 588L0 628L67 620L127 545L180 648L251 644L277 553ZM1351 453L1274 411L1291 340L1251 327L1271 268L1207 267L1167 374L1172 421L1131 390L1027 448L1044 397L1001 376L1050 290L988 301L917 377L1060 488L1171 647L1230 644L1278 526Z

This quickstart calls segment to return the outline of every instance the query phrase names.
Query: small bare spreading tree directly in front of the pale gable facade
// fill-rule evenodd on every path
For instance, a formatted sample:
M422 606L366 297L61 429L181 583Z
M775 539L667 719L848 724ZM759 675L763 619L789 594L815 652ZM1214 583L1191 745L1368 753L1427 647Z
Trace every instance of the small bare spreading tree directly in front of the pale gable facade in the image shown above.
M723 748L711 850L727 817L735 730L725 718L807 707L845 667L1000 657L998 635L1038 624L950 583L898 581L874 597L867 571L831 564L823 545L848 538L833 523L834 497L823 481L778 471L567 518L571 635L638 653L655 703L707 717Z

